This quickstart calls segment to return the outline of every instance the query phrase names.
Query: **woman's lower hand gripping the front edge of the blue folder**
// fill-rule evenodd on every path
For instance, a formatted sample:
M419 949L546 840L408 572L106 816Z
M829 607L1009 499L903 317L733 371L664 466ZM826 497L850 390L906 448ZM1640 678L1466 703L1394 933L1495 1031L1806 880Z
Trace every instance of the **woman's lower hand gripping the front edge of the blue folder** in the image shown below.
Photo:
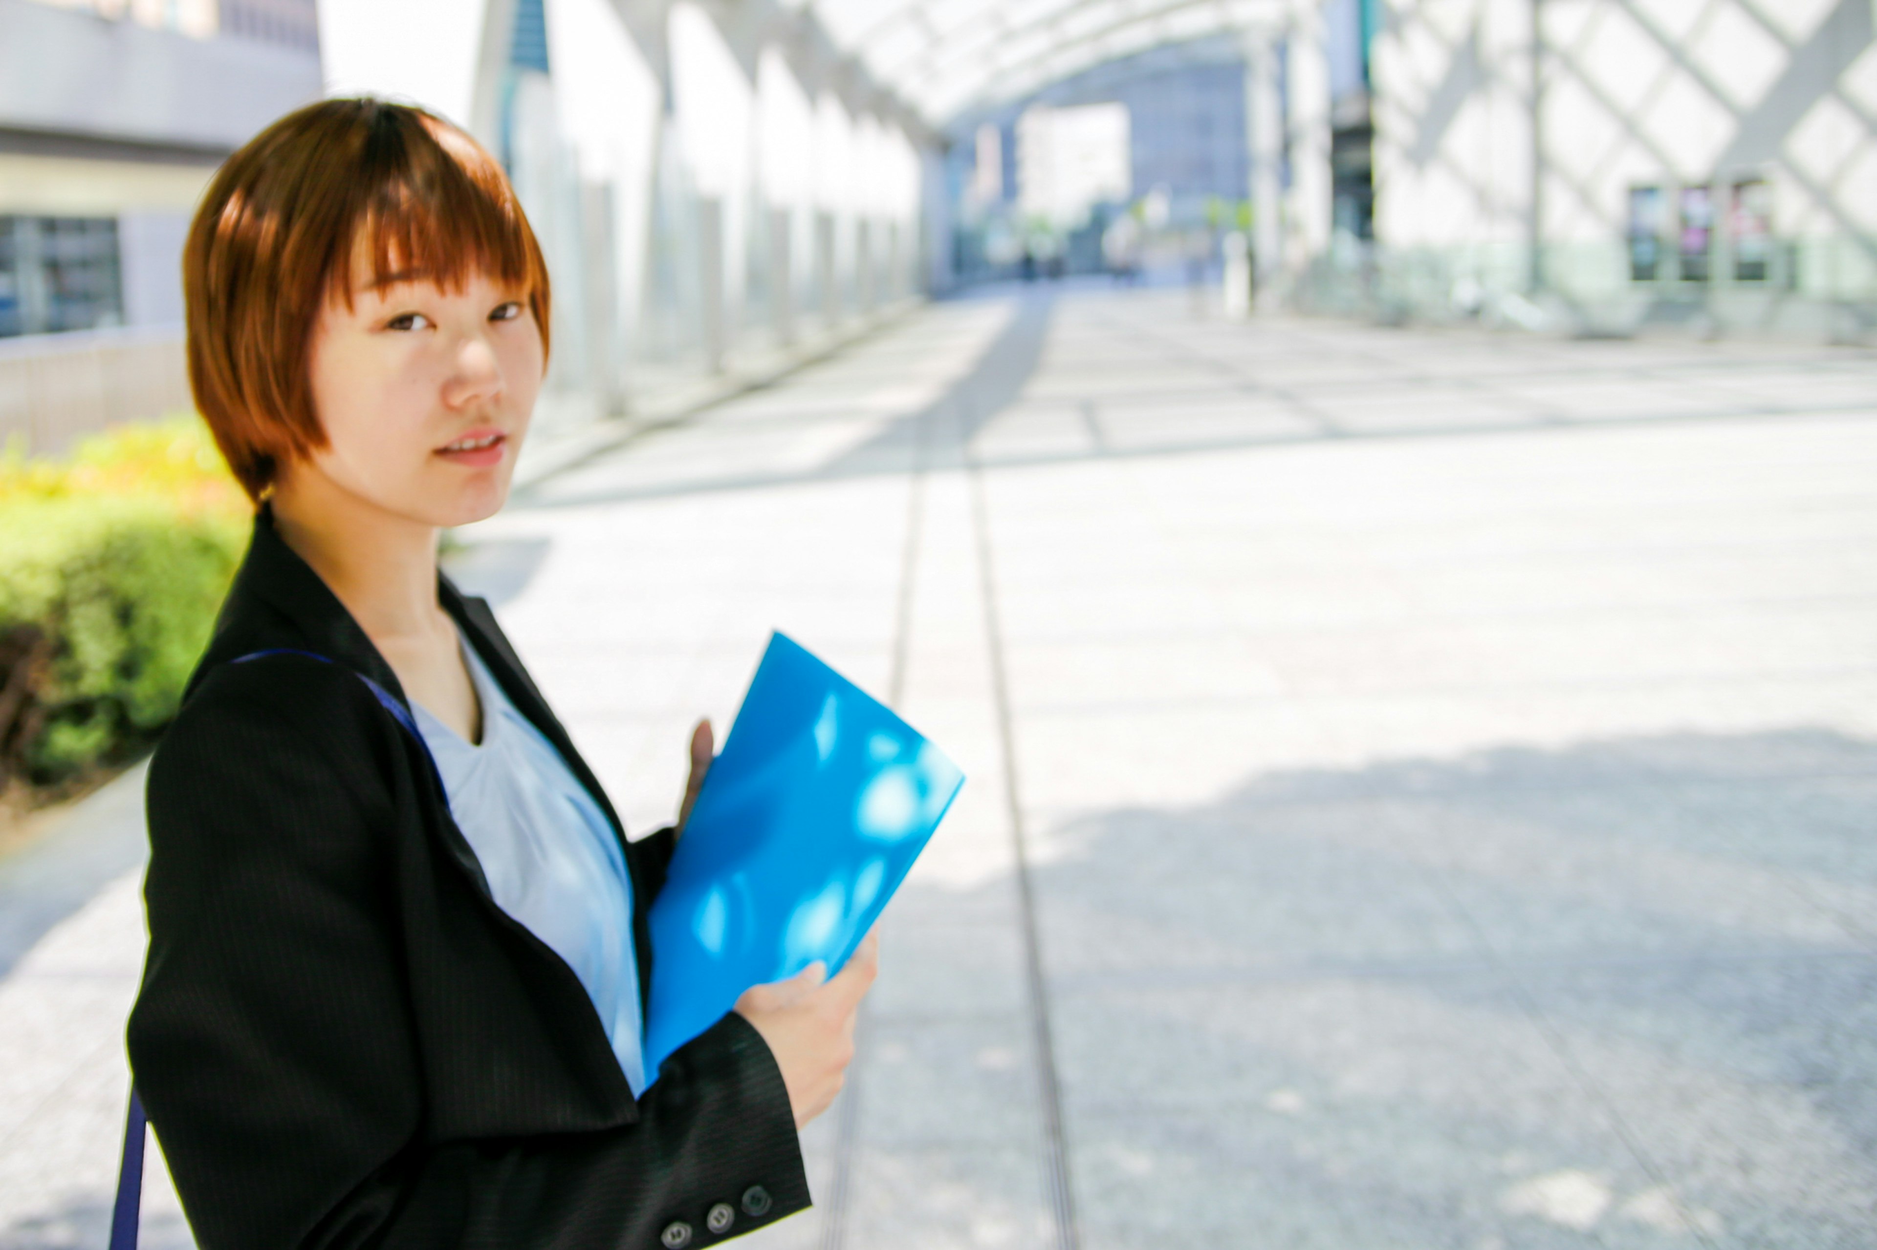
M854 1059L854 1019L880 972L880 938L860 944L841 976L828 983L828 968L815 961L801 974L747 989L736 1012L762 1034L783 1070L796 1128L828 1109L847 1081Z

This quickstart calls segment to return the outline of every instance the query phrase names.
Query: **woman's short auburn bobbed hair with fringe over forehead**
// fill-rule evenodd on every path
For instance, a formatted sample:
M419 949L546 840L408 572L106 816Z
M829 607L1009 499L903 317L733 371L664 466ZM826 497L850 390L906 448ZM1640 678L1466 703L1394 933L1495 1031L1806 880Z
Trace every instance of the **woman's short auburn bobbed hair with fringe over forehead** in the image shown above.
M248 141L208 184L182 252L190 389L257 503L325 447L308 349L327 300L351 308L357 248L375 283L473 274L524 287L548 347L548 267L501 165L422 109L323 99Z

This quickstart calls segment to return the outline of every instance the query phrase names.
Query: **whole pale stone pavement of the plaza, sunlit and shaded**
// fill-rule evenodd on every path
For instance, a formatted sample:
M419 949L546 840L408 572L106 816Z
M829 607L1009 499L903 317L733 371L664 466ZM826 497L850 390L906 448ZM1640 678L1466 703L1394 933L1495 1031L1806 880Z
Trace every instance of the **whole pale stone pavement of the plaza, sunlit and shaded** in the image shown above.
M1002 291L467 537L640 830L773 627L969 775L753 1246L1877 1241L1869 355ZM9 1250L99 1241L94 860L0 952Z

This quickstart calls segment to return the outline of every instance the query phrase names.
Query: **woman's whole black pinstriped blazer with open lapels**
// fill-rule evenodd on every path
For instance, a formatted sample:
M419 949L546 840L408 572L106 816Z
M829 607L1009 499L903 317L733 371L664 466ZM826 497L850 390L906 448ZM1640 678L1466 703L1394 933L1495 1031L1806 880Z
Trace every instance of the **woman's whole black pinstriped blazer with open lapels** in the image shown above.
M439 595L619 830L488 604ZM336 663L229 663L270 648ZM725 1015L634 1102L580 980L496 907L430 756L355 674L404 698L263 509L148 781L130 1057L199 1244L698 1246L807 1207L762 1036ZM644 991L672 831L619 839Z

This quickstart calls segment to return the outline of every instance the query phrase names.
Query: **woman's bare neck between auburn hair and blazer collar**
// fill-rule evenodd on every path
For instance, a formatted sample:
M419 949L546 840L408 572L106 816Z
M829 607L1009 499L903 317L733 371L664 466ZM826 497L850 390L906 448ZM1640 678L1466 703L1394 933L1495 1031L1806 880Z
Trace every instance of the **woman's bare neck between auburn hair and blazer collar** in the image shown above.
M437 604L437 527L387 512L308 465L283 473L274 529L387 655L450 633Z

